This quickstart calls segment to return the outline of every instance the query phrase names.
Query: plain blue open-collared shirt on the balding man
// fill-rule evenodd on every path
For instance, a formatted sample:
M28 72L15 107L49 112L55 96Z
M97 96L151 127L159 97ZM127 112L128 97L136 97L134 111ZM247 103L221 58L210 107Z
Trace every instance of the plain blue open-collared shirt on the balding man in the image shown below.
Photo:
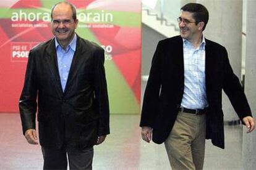
M61 78L61 87L62 91L64 92L67 84L67 78L69 76L70 66L74 57L75 48L77 47L77 35L74 35L74 38L67 46L66 51L62 49L56 38L55 47L58 59L59 77Z

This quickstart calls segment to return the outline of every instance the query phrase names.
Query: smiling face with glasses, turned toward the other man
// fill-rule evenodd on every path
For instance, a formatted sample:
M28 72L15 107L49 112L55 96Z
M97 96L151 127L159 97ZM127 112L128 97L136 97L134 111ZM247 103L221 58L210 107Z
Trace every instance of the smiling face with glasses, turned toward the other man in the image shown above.
M181 37L189 41L198 38L198 35L202 32L202 26L196 25L195 19L191 12L181 11L179 15L179 32Z

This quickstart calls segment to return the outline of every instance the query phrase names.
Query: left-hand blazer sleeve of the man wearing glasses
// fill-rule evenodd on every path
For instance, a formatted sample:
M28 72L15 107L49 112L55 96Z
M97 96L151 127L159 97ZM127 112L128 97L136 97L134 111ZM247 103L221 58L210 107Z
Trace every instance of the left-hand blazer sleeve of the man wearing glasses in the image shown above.
M158 101L161 87L161 41L158 42L151 62L150 74L143 98L140 127L153 127L153 121L158 112Z

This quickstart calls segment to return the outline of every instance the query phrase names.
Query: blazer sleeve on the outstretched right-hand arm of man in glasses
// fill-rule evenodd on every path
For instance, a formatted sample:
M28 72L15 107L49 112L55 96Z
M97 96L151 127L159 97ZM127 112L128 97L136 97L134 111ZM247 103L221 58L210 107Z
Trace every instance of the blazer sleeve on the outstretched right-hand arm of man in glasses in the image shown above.
M224 47L223 47L224 48ZM228 52L223 49L224 61L223 61L223 90L228 95L228 98L233 105L239 118L242 120L245 116L252 116L252 112L249 107L249 103L245 97L244 91L242 90L239 78L234 74L233 69L228 60Z

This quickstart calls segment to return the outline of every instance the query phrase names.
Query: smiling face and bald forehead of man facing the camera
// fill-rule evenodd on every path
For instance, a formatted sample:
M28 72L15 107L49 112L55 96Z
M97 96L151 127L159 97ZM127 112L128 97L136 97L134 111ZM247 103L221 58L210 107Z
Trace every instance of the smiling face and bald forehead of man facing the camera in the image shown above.
M78 20L74 21L72 15L68 4L58 4L54 7L51 31L61 44L68 44L74 36Z

